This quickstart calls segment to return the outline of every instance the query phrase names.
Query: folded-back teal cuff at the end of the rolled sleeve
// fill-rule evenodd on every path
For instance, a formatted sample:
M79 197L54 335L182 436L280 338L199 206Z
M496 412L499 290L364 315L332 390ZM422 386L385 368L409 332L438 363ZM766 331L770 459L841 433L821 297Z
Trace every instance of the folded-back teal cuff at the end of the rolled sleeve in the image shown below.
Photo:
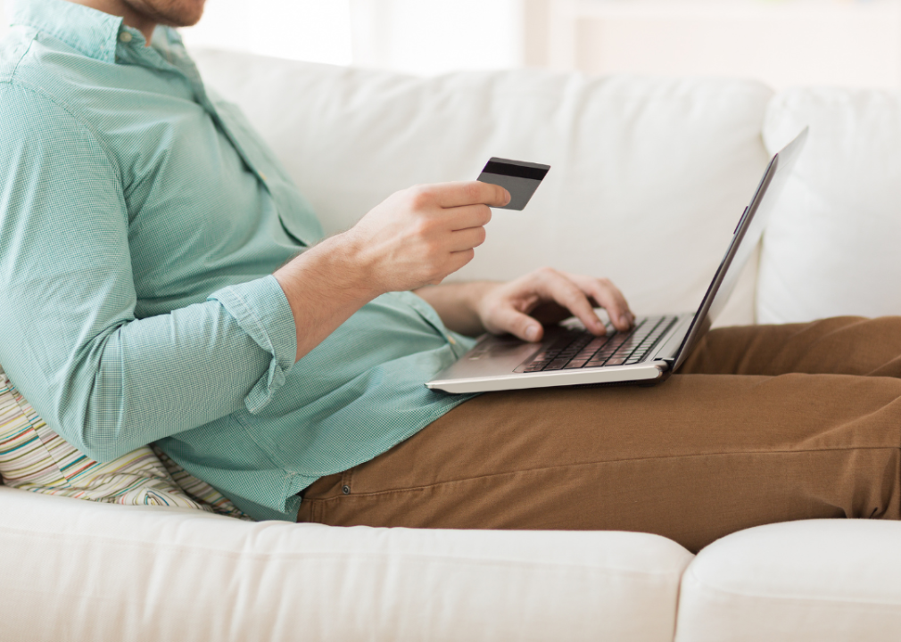
M266 374L244 397L247 410L256 414L285 384L285 377L296 361L297 330L291 306L276 277L271 275L223 287L210 294L207 301L221 303L241 330L272 356Z

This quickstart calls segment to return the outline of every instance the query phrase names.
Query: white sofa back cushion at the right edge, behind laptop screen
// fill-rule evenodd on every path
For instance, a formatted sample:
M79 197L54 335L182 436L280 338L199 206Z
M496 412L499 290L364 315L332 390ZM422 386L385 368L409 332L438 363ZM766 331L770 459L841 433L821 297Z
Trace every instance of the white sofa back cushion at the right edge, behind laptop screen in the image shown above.
M796 88L769 105L775 152L810 125L763 241L761 323L901 314L901 97Z

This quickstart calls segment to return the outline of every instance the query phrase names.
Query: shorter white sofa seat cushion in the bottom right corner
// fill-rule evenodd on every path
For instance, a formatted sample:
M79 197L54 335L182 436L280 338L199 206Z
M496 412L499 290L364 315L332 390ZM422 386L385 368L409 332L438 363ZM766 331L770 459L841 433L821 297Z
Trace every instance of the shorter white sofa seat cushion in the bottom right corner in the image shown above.
M677 642L901 639L901 523L805 520L702 550L679 596Z

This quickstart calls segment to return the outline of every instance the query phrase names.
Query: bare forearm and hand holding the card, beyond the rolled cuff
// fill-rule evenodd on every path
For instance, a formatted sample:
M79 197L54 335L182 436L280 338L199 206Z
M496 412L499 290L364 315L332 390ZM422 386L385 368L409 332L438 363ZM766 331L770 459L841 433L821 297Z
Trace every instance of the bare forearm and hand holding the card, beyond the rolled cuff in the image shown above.
M485 240L488 206L509 202L498 185L417 185L279 267L273 276L294 316L297 358L379 294L441 283L465 266Z

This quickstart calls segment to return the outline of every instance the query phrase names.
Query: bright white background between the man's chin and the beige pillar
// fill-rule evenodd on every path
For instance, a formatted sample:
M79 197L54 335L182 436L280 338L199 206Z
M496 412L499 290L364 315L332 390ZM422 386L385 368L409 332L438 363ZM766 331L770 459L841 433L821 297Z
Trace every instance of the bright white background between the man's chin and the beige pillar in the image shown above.
M523 64L523 0L208 0L191 47L431 75Z

